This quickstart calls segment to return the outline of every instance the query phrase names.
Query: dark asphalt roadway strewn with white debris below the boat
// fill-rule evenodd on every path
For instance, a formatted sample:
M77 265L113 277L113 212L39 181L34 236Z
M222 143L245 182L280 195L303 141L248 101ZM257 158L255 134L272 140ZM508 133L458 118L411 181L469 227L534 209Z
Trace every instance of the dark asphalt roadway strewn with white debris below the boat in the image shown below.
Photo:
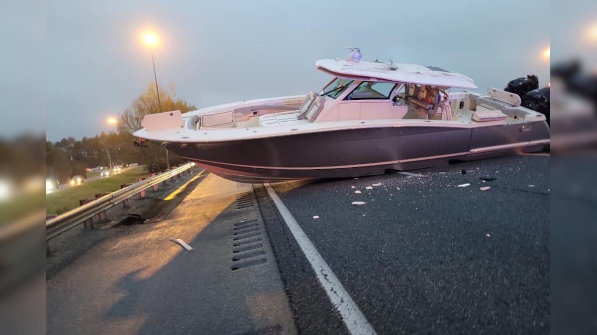
M549 332L549 156L417 172L272 186L378 334ZM345 332L259 197L297 327Z

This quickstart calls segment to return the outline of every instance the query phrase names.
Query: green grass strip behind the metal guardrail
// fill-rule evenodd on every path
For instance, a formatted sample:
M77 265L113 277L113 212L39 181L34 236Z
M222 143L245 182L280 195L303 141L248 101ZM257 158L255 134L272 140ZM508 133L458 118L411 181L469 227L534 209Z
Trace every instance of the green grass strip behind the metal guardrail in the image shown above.
M144 171L144 166L137 166L126 172L110 175L94 181L84 182L81 185L64 188L45 197L46 212L48 214L61 214L79 207L79 200L95 198L97 193L113 192L120 190L120 185L139 181L139 178L146 178L151 173Z

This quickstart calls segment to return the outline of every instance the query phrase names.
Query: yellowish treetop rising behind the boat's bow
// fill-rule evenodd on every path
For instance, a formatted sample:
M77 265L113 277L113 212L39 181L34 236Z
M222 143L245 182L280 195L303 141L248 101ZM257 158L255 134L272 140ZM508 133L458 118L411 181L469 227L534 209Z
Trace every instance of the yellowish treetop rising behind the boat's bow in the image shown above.
M173 84L170 85L168 90L159 86L159 99L162 111L180 110L181 113L186 113L187 111L197 109L192 104L176 98ZM143 120L144 116L155 113L159 113L158 95L155 91L155 83L150 82L143 93L122 113L118 130L121 133L133 134L133 132L141 129L141 120Z

